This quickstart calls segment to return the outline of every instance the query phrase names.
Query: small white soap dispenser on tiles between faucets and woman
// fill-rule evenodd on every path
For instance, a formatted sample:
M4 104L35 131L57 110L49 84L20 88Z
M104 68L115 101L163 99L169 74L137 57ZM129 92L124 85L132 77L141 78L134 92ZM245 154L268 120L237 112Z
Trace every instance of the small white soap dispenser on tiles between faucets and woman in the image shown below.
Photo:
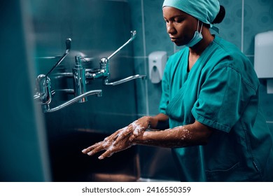
M167 52L156 51L149 56L149 78L152 83L160 83L167 62Z

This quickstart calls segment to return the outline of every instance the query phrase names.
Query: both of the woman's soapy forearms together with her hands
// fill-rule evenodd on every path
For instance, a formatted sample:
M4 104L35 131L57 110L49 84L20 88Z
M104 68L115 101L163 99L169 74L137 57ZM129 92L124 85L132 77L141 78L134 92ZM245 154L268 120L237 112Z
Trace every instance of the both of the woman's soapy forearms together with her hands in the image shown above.
M144 116L134 121L127 127L120 129L104 141L100 141L92 146L83 149L83 153L94 155L99 151L106 150L99 159L104 159L130 148L134 144L160 146L166 148L186 147L207 144L212 130L206 125L195 121L191 125L174 127L164 131L146 131L149 124L151 127L158 126L159 122L165 122L168 116L159 114L158 116Z

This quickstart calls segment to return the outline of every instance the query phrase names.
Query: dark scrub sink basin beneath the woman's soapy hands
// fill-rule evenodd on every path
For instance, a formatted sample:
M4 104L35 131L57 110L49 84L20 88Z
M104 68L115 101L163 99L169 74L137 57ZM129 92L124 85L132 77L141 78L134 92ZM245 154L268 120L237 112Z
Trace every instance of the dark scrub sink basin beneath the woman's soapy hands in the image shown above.
M138 181L137 146L99 160L81 151L109 134L73 131L49 138L52 181Z

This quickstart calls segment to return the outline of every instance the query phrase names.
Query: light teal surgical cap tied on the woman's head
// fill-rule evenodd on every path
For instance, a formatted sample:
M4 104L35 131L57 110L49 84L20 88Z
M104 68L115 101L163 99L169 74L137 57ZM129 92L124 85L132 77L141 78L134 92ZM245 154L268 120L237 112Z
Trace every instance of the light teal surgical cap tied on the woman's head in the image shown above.
M162 8L170 6L197 18L210 25L211 29L219 31L211 22L214 21L220 10L218 0L165 0Z

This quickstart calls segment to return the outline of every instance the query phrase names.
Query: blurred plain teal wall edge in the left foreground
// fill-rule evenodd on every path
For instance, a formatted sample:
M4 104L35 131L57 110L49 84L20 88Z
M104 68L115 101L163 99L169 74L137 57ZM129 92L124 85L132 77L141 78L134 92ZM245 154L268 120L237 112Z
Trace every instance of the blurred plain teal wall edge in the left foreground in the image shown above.
M0 9L0 181L50 181L43 122L29 80L27 24L20 1L1 1Z

